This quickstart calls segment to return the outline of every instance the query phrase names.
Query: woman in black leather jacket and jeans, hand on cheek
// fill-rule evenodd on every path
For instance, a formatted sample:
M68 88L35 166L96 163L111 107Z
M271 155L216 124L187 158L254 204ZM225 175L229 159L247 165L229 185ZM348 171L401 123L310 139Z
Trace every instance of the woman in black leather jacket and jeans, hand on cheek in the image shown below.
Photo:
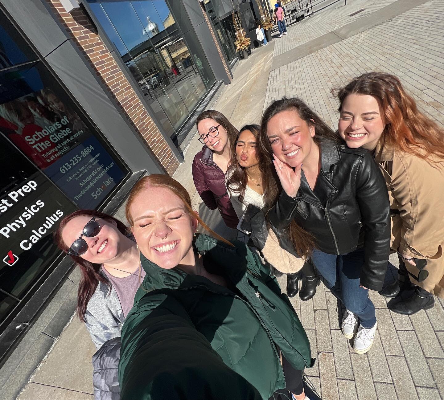
M389 260L389 197L379 167L297 98L270 104L258 144L266 203L274 203L270 223L291 230L294 221L313 236L313 263L347 309L342 333L355 352L368 352L377 328L369 289L382 289Z

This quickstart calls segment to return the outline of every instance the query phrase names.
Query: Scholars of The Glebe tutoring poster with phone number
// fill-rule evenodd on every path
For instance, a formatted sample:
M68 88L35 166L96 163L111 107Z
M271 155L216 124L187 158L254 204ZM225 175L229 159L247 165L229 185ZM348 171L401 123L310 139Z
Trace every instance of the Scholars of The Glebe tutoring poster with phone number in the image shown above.
M126 173L68 100L46 87L0 104L0 131L79 208L96 208Z

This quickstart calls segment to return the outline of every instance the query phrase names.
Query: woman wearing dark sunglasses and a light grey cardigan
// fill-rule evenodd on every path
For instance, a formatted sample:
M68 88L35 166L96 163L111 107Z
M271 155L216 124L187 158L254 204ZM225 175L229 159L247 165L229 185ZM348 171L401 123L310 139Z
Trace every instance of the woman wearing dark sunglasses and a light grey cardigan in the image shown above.
M67 215L54 234L57 246L71 256L82 273L77 315L99 349L92 361L95 399L119 396L120 332L145 276L139 250L130 236L118 219L95 210Z

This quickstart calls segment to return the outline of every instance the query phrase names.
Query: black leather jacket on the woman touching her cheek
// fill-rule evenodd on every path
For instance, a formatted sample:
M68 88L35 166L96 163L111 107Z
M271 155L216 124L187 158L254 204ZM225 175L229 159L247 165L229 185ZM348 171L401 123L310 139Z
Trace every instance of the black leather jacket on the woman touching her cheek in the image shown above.
M282 190L269 211L279 229L293 220L313 234L324 253L346 254L365 248L361 285L381 290L390 251L390 204L387 186L372 154L324 139L321 172L311 190L301 172L296 197Z

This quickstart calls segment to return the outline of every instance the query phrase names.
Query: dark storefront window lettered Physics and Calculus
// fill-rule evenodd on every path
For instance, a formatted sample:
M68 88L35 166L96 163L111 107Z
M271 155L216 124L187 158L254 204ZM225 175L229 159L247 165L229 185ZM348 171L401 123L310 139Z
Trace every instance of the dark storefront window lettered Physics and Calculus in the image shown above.
M129 174L0 11L0 331L61 252L59 221L97 209Z

